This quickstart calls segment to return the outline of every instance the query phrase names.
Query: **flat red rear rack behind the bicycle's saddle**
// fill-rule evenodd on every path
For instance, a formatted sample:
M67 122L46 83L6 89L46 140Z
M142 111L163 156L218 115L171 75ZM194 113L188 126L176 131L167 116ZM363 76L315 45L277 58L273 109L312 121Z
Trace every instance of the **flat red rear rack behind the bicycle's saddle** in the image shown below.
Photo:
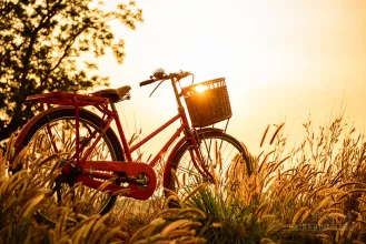
M108 104L109 99L93 96L93 95L83 95L83 94L73 94L67 92L50 92L38 95L30 95L26 99L27 102L39 102L47 104L58 104L58 105L101 105Z

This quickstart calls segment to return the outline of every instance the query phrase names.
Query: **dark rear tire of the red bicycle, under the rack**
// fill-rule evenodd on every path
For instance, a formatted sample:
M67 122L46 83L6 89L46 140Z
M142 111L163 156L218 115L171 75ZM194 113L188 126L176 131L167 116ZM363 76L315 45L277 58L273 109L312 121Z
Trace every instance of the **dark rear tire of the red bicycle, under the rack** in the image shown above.
M27 145L29 145L30 143L32 143L32 140L34 140L33 143L36 143L37 142L36 140L38 140L37 136L40 136L41 135L39 133L41 133L41 131L47 125L55 126L52 123L57 123L57 122L60 122L60 121L63 121L63 120L65 121L66 120L75 121L76 120L75 114L76 114L76 110L73 108L65 108L65 109L61 109L61 110L52 111L50 113L47 113L44 116L41 116L39 120L37 120L37 122L34 124L31 125L31 128L29 128L28 132L23 136L22 142L20 143L21 144L21 148L26 148ZM100 130L100 126L103 124L103 122L95 113L81 109L81 110L79 110L79 124L80 124L80 126L83 125L83 124L85 125L88 125L88 126L95 129L97 131L97 133L98 133L98 132L101 131ZM63 126L63 125L61 124L61 126ZM87 130L89 130L90 128L88 128ZM65 132L62 132L62 133L65 133ZM113 132L113 130L111 128L109 128L105 132L105 134L103 134L103 136L102 136L101 140L103 140L103 142L106 143L106 145L107 145L107 148L109 150L110 157L111 157L110 160L113 160L113 161L125 161L123 152L121 151L121 146L120 146L119 140L118 140L116 133ZM98 143L98 145L99 145L99 143ZM33 146L33 148L36 148L36 146ZM43 148L44 148L44 145L43 145ZM37 148L36 149L32 149L32 150L37 150ZM42 152L42 153L47 153L47 152ZM51 153L55 154L55 152L49 152L49 154L51 154ZM27 156L27 153L26 153L26 156ZM36 159L32 159L32 160L36 160ZM36 161L32 161L32 162L36 162ZM23 169L23 164L24 164L24 162L22 162L20 164L20 166L14 170L14 173L18 172L18 171L20 171L20 170L22 170ZM28 165L28 167L30 166L29 163L27 165ZM52 165L48 165L48 166L51 167ZM63 184L63 187L65 186L66 185ZM58 203L59 203L59 201L61 202L61 204L60 203L58 204L59 206L62 205L62 200L59 200L59 197L61 196L61 193L58 192L58 191L61 191L61 187L62 186L60 185L60 189L58 189L57 192L53 193L53 195L55 194L57 195ZM69 185L69 187L71 187L71 186ZM88 189L88 186L85 186L85 185L81 186L81 187ZM90 189L90 191L92 192L92 189ZM59 194L60 194L60 196L59 196ZM92 213L92 214L100 214L100 215L102 215L102 214L108 213L111 210L111 207L113 206L113 204L115 204L115 202L117 200L117 196L116 195L112 195L110 193L101 193L101 194L106 194L105 197L108 197L108 199L106 200L105 204L102 204L100 206L100 209L98 209L96 211L96 213ZM107 194L108 194L108 196L107 196ZM81 195L80 195L80 197L81 197ZM37 214L40 216L40 217L38 217L38 220L40 220L41 222L55 223L55 221L51 220L50 216L47 216L46 213L42 213L41 211L38 211ZM90 215L90 214L86 214L86 213L82 213L82 214Z

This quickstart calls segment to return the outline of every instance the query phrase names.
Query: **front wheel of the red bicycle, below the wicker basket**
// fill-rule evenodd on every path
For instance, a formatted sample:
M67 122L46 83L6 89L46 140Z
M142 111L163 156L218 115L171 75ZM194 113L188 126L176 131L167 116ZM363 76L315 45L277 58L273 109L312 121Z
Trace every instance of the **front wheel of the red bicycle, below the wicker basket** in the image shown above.
M215 177L215 185L220 190L231 191L250 174L250 163L247 150L229 134L209 130L198 135L199 151L204 165ZM200 183L208 182L208 176L199 173L191 156L192 143L187 141L171 162L166 187L176 192L180 200L185 199ZM239 170L240 169L240 170Z

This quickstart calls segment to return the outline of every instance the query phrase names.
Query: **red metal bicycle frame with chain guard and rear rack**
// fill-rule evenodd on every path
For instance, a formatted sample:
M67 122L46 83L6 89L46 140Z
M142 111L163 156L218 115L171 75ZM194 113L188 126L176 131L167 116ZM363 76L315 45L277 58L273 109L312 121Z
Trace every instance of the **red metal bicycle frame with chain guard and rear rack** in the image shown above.
M82 182L82 184L88 185L93 189L99 189L101 186L100 181L95 181L96 179L101 180L110 180L110 179L128 179L128 176L120 176L116 175L115 173L103 173L100 171L109 171L109 172L120 172L120 173L127 173L127 175L133 175L135 179L138 177L137 175L141 172L145 172L147 175L154 175L151 180L151 185L149 185L147 189L145 189L145 192L139 191L139 186L133 186L133 184L130 184L131 193L127 193L125 195L146 200L148 199L154 192L156 187L156 176L152 167L157 164L157 162L166 154L170 145L174 144L174 142L184 133L184 138L177 143L178 148L179 143L186 142L187 140L190 140L192 143L192 148L190 149L190 156L192 160L194 165L198 170L199 173L202 175L210 176L212 179L211 173L204 166L204 160L201 157L198 142L194 135L194 131L190 129L187 115L185 112L184 106L181 105L179 94L177 92L177 87L175 84L175 81L171 80L176 99L178 103L178 114L172 116L169 121L164 123L160 128L155 130L152 133L144 138L140 142L129 146L126 135L123 133L123 129L117 112L117 109L115 106L115 103L109 102L109 99L107 98L100 98L100 96L90 96L90 95L81 95L81 94L71 94L71 93L63 93L63 92L53 92L53 93L46 93L46 94L39 94L33 95L30 98L27 98L27 101L30 102L39 102L41 104L41 110L46 113L49 110L44 110L44 104L58 104L61 106L56 106L56 109L62 109L62 108L75 108L76 110L76 153L73 156L71 156L71 160L63 166L62 172L66 174L73 174L77 172L76 181L75 182ZM98 142L103 136L103 133L99 133L91 146L83 153L82 157L80 159L80 152L85 149L86 144L88 143L81 143L80 142L80 132L79 132L79 110L80 108L92 105L97 108L102 113L102 124L100 124L100 129L102 132L106 132L110 126L112 121L116 122L119 139L121 142L122 150L126 155L125 163L119 161L87 161L88 156L91 154L93 149L97 146ZM109 109L109 106L111 109ZM51 109L52 110L52 109ZM33 123L44 114L40 113L36 118L33 118L29 123L26 124L21 133L18 135L17 141L21 142L22 138L26 135L29 128L32 126ZM137 149L139 149L141 145L147 143L150 139L159 134L161 131L164 131L166 128L171 125L174 122L180 120L180 126L177 129L177 131L170 136L170 139L165 143L165 145L160 149L160 151L154 156L151 162L148 164L141 163L141 162L133 162L131 153L135 152ZM47 128L48 133L52 133L50 128ZM51 136L51 134L49 134ZM89 139L91 140L91 138ZM58 152L58 149L56 144L52 144L55 152ZM20 144L17 144L16 142L16 151L18 150L18 153L20 151ZM176 149L176 148L175 148ZM18 154L16 153L16 154ZM170 152L171 154L176 153L176 150L172 150ZM172 159L174 156L169 156L168 160ZM130 166L129 166L130 165ZM169 170L166 167L166 170ZM98 172L99 171L99 172ZM63 179L65 181L69 181L67 177ZM136 180L135 180L136 181ZM136 181L137 182L137 181ZM150 184L150 182L149 182ZM103 191L110 191L116 192L122 190L121 186L118 185L107 185Z

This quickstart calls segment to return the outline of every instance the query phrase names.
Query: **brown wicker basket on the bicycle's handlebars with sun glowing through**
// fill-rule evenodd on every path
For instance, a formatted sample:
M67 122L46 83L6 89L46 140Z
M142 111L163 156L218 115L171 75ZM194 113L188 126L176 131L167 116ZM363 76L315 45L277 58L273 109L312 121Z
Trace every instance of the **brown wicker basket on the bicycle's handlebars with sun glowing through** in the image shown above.
M225 78L182 89L194 128L204 128L231 118L231 105Z

